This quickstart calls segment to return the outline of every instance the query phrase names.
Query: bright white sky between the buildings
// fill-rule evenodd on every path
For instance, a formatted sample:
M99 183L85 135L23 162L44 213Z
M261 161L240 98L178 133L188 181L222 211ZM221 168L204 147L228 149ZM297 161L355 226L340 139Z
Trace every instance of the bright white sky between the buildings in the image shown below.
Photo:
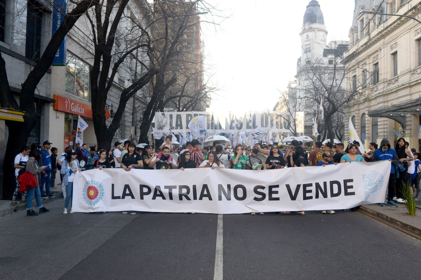
M331 40L349 40L354 0L318 0ZM310 0L210 0L229 16L201 24L205 68L218 88L210 110L272 110L294 79ZM202 16L209 20L209 15ZM215 20L218 22L218 19Z

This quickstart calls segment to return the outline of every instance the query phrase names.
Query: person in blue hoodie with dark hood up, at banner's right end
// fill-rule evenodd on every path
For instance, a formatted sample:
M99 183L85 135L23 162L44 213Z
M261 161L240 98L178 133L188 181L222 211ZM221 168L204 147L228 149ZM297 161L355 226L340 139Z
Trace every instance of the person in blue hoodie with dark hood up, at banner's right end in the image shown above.
M389 191L387 194L387 205L392 207L397 207L396 203L393 202L394 192L395 192L395 183L396 183L396 174L395 166L399 162L399 158L394 149L391 148L389 140L383 138L380 143L380 148L376 149L371 153L371 162L378 162L379 160L388 160L391 162L390 166L390 177L389 177ZM380 203L380 206L386 206L385 203Z

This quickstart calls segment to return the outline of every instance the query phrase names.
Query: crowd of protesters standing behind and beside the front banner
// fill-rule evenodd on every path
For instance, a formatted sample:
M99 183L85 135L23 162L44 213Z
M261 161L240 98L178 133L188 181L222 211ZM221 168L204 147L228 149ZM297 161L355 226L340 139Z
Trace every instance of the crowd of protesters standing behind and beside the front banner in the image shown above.
M58 149L51 147L52 143L48 140L43 143L43 146L37 143L33 143L31 147L24 146L21 153L15 157L16 189L11 206L25 204L27 215L36 216L38 213L32 210L32 198L35 195L39 213L49 212L43 207L41 198L54 197L51 189L57 188L56 173L59 171L60 183L57 185L63 185L63 213L73 213L71 200L75 173L103 168L122 168L125 171L132 169L183 171L189 168L276 170L288 167L325 167L347 162L388 160L391 162L388 191L384 203L380 205L397 207L395 202L404 203L401 189L406 186L413 187L414 199L418 200L420 193L421 154L415 149L409 150L408 142L405 142L402 137L397 140L395 148L392 148L386 138L381 141L380 147L376 143L370 143L367 153L359 150L360 143L356 141L349 143L346 148L343 143L332 145L328 142L323 145L322 142L316 141L314 147L309 149L303 147L301 141L293 140L288 148L280 143L279 145L278 143L256 143L253 147L237 144L232 150L229 145L221 145L219 141L214 141L212 146L204 147L199 140L195 139L180 148L172 145L171 141L171 136L167 136L165 142L159 147L145 144L138 148L133 141L125 140L123 143L116 142L114 149L99 150L96 146L88 148L86 144L81 146L77 144L75 150L67 147L59 158L57 158ZM35 188L21 190L19 177L24 171L35 176L37 182ZM69 207L70 211L68 211ZM351 210L357 209L358 207L354 207ZM348 211L349 209L344 209L344 212ZM123 211L123 213L136 214L135 211ZM323 210L322 213L333 214L335 211ZM290 214L290 212L281 212L281 214ZM305 213L297 211L296 214L304 215ZM252 215L255 213L253 212Z

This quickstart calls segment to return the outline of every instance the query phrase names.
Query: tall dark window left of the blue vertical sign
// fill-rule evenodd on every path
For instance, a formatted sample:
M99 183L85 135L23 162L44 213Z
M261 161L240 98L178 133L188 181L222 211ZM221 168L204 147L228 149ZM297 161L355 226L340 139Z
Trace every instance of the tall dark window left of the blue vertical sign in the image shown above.
M43 7L35 0L28 1L25 57L35 60L41 54Z

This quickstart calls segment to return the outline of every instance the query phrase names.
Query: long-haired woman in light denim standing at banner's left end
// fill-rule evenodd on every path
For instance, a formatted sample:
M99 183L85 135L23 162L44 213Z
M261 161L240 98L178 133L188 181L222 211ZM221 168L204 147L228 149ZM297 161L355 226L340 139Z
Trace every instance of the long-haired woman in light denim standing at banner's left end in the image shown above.
M76 159L76 152L68 150L66 159L64 160L60 170L61 174L64 175L63 186L66 188L66 199L64 200L63 214L67 214L67 208L69 207L69 202L73 194L73 180L75 180L75 173L77 170L79 170L79 172L82 171L80 170L79 161ZM70 207L72 207L72 203L70 203ZM70 210L70 213L73 213L73 211Z

